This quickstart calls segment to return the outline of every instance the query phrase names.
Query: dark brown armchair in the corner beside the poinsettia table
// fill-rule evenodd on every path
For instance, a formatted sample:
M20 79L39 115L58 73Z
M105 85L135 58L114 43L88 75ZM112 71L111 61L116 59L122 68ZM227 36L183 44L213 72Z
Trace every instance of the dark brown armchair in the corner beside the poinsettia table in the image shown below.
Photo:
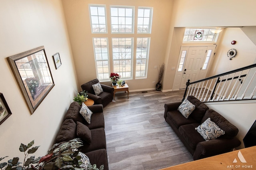
M92 99L94 101L94 104L102 104L103 107L105 107L114 98L114 88L104 84L100 84L103 92L100 92L100 94L96 95L92 85L96 85L97 83L100 83L100 81L98 79L94 79L82 84L81 88L82 90L88 92L88 98Z

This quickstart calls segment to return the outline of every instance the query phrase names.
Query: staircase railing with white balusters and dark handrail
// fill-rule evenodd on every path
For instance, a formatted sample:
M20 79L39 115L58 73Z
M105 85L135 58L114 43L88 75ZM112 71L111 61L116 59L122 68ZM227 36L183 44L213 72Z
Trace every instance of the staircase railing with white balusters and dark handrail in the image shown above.
M202 102L256 99L256 64L186 83L182 101L193 95Z

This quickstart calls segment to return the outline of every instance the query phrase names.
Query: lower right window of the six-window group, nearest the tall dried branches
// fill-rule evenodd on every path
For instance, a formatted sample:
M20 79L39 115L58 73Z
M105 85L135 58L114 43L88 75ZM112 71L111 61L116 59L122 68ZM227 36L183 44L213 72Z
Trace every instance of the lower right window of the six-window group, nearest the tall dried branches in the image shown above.
M136 78L142 78L147 76L149 44L150 38L137 38L135 75Z

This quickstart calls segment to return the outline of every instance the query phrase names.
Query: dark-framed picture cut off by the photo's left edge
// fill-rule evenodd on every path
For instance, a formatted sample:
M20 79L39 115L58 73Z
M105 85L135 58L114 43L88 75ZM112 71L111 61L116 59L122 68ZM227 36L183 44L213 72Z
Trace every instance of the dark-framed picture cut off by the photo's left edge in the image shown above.
M0 125L12 115L10 108L7 105L6 100L4 99L3 93L0 93Z

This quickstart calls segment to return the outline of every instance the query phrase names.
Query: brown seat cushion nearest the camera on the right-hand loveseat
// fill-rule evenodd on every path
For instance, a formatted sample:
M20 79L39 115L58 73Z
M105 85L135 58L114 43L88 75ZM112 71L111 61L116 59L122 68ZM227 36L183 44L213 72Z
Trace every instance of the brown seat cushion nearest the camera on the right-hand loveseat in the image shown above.
M204 138L195 130L199 123L182 125L179 127L179 132L190 148L195 149L199 142L205 141Z

